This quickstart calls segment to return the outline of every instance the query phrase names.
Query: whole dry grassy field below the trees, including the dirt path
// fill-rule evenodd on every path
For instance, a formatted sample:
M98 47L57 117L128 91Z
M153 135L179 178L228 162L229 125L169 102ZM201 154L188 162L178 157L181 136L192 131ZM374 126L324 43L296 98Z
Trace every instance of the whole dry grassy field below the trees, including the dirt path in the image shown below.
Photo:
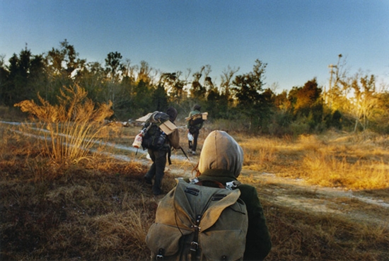
M0 123L0 260L148 260L144 238L161 196L143 182L144 152L129 149L138 131L112 127L110 143L58 161L37 145L42 132ZM257 187L265 209L266 260L389 260L389 137L230 134L245 152L240 181ZM197 160L173 151L163 190Z

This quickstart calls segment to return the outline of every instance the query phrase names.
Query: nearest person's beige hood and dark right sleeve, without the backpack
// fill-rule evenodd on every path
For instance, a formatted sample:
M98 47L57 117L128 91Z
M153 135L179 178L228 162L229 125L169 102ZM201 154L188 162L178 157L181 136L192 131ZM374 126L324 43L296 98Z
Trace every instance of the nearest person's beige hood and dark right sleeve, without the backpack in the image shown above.
M197 166L197 179L214 180L226 185L237 180L243 166L243 149L229 134L213 131L204 141ZM251 185L241 184L240 199L248 211L248 233L246 235L243 260L263 260L272 248L257 190Z

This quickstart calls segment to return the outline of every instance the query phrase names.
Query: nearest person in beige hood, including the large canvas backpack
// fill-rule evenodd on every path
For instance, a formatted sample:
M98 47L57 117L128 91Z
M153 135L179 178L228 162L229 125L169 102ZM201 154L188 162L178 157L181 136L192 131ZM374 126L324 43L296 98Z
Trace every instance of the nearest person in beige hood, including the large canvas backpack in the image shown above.
M223 131L204 141L196 178L178 178L158 203L151 260L263 260L272 248L257 190L237 178L243 150Z

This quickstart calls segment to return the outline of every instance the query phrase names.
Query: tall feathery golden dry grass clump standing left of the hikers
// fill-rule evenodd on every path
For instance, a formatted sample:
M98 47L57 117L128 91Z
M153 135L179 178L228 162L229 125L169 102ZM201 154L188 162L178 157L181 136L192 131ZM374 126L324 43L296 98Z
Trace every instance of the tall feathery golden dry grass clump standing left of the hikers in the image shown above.
M23 132L37 133L37 146L56 163L71 163L88 158L96 139L109 137L112 126L104 124L113 114L112 103L95 104L86 98L80 86L63 87L58 105L51 105L39 95L40 105L33 100L23 100L15 106L28 112L30 120L23 125Z

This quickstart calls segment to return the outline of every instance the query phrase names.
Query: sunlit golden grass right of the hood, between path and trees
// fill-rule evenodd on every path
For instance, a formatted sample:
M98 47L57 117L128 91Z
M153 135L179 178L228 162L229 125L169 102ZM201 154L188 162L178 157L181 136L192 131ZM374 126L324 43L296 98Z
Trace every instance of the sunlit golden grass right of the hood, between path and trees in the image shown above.
M240 137L245 168L352 190L389 187L389 137L373 133Z

